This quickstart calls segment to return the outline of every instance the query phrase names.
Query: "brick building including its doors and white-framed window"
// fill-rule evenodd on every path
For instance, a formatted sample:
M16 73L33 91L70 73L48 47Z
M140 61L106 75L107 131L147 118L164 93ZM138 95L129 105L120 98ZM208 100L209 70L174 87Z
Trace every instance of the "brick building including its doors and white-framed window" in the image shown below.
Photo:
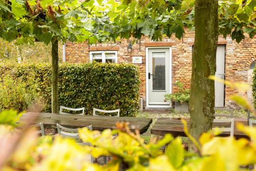
M117 44L97 45L67 42L63 48L63 61L134 63L140 70L140 97L143 98L143 106L168 107L170 104L164 102L163 95L176 91L177 80L190 88L194 36L194 32L186 32L180 40L173 36L165 37L160 42L143 37L132 46L132 39ZM250 83L255 60L256 37L246 37L240 44L230 37L219 37L216 76ZM236 93L216 82L216 106L232 106L229 96ZM251 90L247 94L252 98Z

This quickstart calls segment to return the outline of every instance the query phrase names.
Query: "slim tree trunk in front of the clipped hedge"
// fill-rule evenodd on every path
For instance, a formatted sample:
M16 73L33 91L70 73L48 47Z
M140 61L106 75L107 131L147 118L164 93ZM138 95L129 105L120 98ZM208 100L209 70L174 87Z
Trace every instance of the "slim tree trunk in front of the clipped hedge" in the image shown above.
M58 40L52 39L52 113L58 113Z

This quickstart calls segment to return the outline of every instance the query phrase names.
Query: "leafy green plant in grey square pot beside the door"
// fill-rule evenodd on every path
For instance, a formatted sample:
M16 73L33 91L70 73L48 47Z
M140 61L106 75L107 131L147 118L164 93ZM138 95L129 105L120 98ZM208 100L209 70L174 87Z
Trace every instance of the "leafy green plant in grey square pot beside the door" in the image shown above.
M172 94L164 95L166 100L170 102L175 102L175 112L177 113L186 113L188 112L188 100L190 91L189 89L185 89L183 83L180 81L176 81L176 87L178 91Z

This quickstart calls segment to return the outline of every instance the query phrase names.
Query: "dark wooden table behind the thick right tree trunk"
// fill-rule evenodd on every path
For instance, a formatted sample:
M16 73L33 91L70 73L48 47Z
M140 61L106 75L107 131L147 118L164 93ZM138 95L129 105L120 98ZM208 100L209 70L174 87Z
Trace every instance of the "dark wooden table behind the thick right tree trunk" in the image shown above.
M189 118L183 118L189 126ZM235 118L234 119L234 137L236 138L249 138L244 133L237 130L236 123L241 122L247 125L247 119ZM214 123L214 127L230 127L230 123ZM181 136L186 137L183 130L183 123L181 118L158 118L154 126L151 128L151 134L165 135L167 133L172 134L174 137ZM220 136L229 136L230 132L223 132Z

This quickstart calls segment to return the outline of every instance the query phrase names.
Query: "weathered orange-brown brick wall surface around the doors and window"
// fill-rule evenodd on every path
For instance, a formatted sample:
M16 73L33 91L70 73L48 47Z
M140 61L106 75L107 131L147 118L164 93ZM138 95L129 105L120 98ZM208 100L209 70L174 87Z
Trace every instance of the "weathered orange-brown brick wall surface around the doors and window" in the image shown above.
M136 64L140 70L140 96L146 98L146 47L172 47L172 82L179 80L184 83L186 88L190 88L192 51L194 44L194 32L186 32L180 40L174 36L165 37L161 42L153 42L147 37L143 37L133 45L132 52L127 51L132 39L123 40L117 44L97 44L88 45L86 42L75 44L67 42L66 61L68 62L88 62L89 52L96 50L117 50L118 63L132 63L133 56L142 56L142 63ZM230 37L224 39L219 37L218 44L225 44L225 78L231 81L247 82L248 69L252 61L256 59L256 37L246 38L237 44ZM176 88L173 86L173 92ZM229 96L237 92L225 88L225 105L232 105ZM144 103L145 104L145 103Z

